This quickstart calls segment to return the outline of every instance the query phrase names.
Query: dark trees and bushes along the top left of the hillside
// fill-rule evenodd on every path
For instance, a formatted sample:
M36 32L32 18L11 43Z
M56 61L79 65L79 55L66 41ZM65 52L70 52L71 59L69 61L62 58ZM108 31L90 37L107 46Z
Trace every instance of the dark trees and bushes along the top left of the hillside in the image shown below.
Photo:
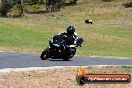
M28 12L27 7L31 6L45 6L45 12L60 11L61 8L76 3L77 0L0 0L0 15L22 16L23 13ZM11 13L13 11L15 13Z

